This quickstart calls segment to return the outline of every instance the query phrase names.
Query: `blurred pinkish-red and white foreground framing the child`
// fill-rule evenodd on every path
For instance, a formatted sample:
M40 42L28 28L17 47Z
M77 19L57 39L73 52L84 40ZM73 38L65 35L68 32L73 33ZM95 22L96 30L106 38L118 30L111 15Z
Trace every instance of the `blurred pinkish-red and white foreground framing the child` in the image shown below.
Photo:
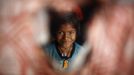
M102 6L86 24L92 54L69 74L134 75L133 0L96 1ZM59 75L40 47L49 38L46 11L81 16L84 5L90 7L92 0L0 0L0 75Z

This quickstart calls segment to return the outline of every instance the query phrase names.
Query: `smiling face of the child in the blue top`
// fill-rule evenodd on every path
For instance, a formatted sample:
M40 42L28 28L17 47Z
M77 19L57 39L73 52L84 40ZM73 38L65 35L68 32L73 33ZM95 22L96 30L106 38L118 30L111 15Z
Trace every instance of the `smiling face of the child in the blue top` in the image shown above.
M69 48L76 40L76 29L70 24L63 24L59 28L56 40L59 46Z

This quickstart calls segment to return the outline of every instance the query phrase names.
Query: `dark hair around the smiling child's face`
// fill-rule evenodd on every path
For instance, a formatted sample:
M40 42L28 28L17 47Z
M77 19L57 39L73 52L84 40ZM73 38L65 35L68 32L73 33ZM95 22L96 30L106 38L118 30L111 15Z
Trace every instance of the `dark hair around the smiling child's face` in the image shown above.
M53 16L54 17L50 19L51 36L55 38L59 28L66 23L72 25L76 29L77 36L79 35L80 21L74 13L64 15L53 14Z

